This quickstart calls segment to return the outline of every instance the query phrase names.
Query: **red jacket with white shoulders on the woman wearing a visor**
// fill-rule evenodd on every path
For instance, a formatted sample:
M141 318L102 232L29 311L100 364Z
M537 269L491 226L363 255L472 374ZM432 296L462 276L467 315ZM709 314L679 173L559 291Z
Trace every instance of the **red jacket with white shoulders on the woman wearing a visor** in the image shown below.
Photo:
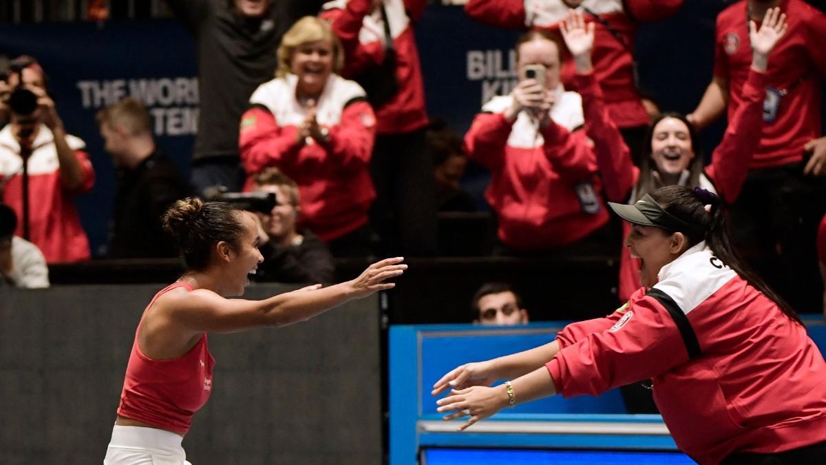
M699 463L826 440L826 362L705 242L603 319L568 325L546 367L565 397L648 378L677 446Z

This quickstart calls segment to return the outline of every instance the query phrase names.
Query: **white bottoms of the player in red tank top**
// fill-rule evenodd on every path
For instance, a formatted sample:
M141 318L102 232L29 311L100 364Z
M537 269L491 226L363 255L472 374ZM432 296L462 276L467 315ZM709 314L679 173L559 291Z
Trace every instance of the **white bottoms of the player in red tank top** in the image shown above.
M164 429L116 424L103 465L192 465L187 462L182 440L179 434Z

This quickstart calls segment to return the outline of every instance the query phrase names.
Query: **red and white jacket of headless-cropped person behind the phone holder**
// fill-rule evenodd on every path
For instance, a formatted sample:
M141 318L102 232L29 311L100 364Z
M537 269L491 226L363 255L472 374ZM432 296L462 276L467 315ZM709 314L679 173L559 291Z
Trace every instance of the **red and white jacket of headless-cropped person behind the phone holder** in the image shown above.
M587 22L595 23L592 60L596 78L605 94L605 104L619 127L648 125L648 113L640 102L634 82L634 37L638 22L661 21L672 16L682 6L682 0L585 0L575 8L585 14ZM473 19L491 26L510 29L537 28L553 32L558 44L564 44L559 23L570 9L563 0L470 0L465 12ZM586 11L587 9L587 11ZM590 13L588 12L590 11ZM616 35L599 21L610 24ZM576 67L567 50L562 51L562 79L565 87L574 91Z

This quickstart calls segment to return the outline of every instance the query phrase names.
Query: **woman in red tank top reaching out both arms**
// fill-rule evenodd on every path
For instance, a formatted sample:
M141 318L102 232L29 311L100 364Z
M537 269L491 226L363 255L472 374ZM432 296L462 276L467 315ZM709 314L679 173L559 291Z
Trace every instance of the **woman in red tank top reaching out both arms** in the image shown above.
M181 441L212 391L215 360L207 333L310 319L392 288L384 281L407 268L401 257L388 258L354 280L326 288L311 285L267 300L229 300L244 293L249 274L263 261L253 216L230 204L190 198L167 211L164 228L175 237L187 271L154 296L140 319L105 465L188 463Z

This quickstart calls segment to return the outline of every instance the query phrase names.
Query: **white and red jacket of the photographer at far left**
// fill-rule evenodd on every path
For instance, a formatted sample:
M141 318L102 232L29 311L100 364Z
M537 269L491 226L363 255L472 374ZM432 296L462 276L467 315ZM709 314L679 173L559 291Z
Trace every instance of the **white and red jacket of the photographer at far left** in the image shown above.
M95 173L86 144L78 137L67 136L66 143L80 161L83 182L75 191L64 188L60 180L60 161L51 130L41 124L37 131L28 163L29 232L33 242L43 252L46 261L78 261L89 258L89 241L78 210L75 194L83 194L95 184ZM2 200L17 213L17 236L23 235L23 160L20 144L12 135L12 125L0 131L0 178L11 176L3 190Z

